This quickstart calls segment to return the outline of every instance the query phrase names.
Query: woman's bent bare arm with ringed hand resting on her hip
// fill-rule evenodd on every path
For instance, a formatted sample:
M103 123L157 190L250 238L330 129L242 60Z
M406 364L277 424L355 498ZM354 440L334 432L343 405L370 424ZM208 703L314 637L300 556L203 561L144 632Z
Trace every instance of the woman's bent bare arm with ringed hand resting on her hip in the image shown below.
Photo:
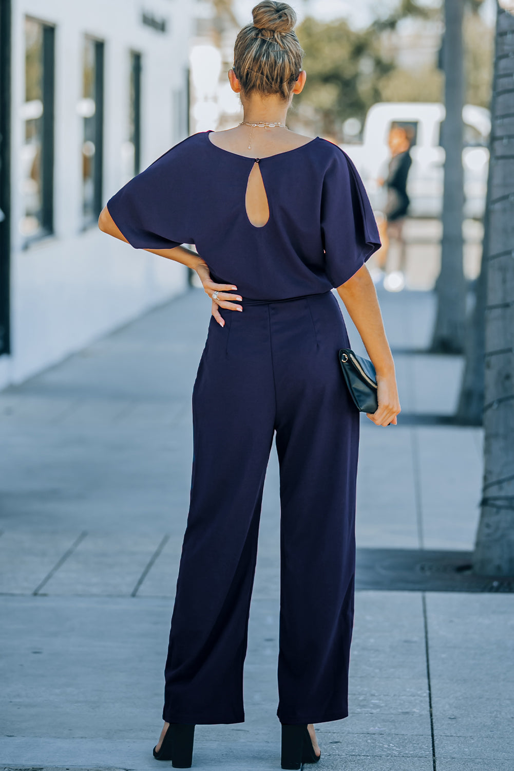
M109 209L105 206L100 212L98 218L98 227L102 233L106 233L114 238L119 238L119 241L125 241L129 243L122 231L116 225L109 213ZM182 265L186 265L187 268L191 268L193 271L197 271L198 277L202 282L203 290L206 295L211 299L212 315L216 318L218 324L223 327L225 321L220 314L218 308L228 308L230 311L242 311L240 305L230 302L230 300L241 300L240 295L231 295L227 293L227 289L237 289L237 286L233 284L217 284L210 278L210 271L207 262L200 257L200 254L196 254L192 249L186 249L183 246L176 246L173 249L144 249L143 251L151 251L152 254L157 254L159 257L164 257L166 260L173 260L174 262L180 262ZM218 291L219 295L217 300L213 300L213 291ZM222 296L223 295L223 296Z

